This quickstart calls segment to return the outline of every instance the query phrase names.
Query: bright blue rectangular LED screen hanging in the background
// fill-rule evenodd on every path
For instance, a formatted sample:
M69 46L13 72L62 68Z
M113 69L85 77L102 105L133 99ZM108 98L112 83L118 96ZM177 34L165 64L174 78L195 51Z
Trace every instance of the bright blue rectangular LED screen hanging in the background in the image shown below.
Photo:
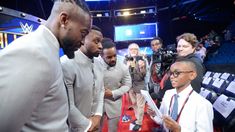
M146 40L158 35L157 23L115 26L114 31L114 40L116 42Z

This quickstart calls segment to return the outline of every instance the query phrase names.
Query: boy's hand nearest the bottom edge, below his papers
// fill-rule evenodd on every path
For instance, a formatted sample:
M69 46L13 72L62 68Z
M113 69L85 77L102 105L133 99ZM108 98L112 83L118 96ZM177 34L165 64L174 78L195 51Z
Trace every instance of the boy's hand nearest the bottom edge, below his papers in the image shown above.
M163 116L163 122L165 123L166 128L170 129L173 132L180 132L180 125L169 116Z

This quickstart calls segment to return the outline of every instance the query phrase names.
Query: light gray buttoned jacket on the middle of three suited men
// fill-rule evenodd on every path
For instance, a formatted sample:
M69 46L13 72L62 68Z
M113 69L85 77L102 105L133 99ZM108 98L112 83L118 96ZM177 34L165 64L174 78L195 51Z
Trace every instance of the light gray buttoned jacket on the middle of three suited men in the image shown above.
M61 58L64 80L69 91L72 131L87 131L93 115L102 116L104 101L103 67L80 50L74 59Z

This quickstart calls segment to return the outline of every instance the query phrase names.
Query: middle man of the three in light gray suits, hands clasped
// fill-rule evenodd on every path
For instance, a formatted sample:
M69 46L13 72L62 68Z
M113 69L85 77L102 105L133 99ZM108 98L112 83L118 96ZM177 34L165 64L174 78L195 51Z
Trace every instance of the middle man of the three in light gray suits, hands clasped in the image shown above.
M101 30L92 26L84 45L75 52L74 59L61 58L65 83L69 92L71 130L97 130L103 112L103 67L98 62L101 50Z

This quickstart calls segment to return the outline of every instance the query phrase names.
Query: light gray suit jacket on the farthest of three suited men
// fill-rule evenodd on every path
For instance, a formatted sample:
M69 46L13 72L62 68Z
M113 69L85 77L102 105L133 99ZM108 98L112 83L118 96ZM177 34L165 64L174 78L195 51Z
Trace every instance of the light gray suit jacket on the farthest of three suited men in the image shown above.
M131 88L131 76L128 67L121 61L113 67L109 67L101 57L100 62L104 66L104 87L112 90L113 97L105 98L104 112L109 118L121 116L122 95Z

